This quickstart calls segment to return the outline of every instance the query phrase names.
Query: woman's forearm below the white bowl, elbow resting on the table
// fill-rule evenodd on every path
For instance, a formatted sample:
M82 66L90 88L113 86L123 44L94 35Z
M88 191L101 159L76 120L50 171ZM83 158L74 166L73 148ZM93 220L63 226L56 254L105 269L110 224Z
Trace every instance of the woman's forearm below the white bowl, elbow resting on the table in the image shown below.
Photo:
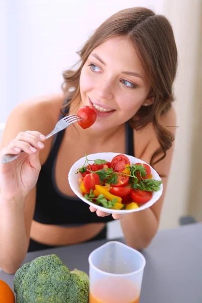
M135 249L142 249L149 245L158 230L158 225L155 213L150 208L126 214L121 219L126 243Z

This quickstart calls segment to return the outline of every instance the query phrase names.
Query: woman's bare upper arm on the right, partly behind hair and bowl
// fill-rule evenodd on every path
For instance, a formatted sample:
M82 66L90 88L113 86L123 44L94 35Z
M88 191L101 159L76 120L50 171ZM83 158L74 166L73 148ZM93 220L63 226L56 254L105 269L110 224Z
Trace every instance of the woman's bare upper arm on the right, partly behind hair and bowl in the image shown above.
M174 108L171 108L168 113L166 113L164 116L161 118L161 122L163 126L166 127L168 131L170 131L173 135L175 135L176 131L176 113ZM155 153L155 151L160 147L158 137L154 131L154 128L150 125L147 128L147 134L148 137L150 137L149 141L147 141L146 148L144 149L142 155L139 155L141 160L145 161L146 163L150 163L150 159ZM153 205L151 206L151 210L153 210L158 222L160 220L160 215L161 215L161 209L166 193L166 187L168 183L168 177L169 177L169 172L170 172L170 167L172 163L172 156L173 156L173 150L174 150L174 141L172 143L172 146L170 149L166 151L166 157L155 164L154 168L158 172L158 174L163 177L162 183L163 183L163 193L160 197L160 199ZM162 154L160 155L162 157ZM159 157L159 158L160 158ZM157 158L158 159L158 158ZM156 159L155 159L156 160Z

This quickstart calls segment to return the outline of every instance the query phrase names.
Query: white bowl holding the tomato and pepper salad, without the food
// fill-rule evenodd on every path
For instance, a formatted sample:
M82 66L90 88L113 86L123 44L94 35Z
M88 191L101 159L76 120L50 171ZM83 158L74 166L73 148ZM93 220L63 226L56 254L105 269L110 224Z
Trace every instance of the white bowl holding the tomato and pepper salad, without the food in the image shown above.
M97 153L97 154L91 154L91 155L87 155L87 159L90 160L95 160L95 159L102 159L102 160L106 160L108 162L111 162L112 159L120 154L117 153ZM124 154L123 154L124 155ZM130 160L130 164L135 164L135 163L145 163L146 162L137 159L135 157L132 156L128 156L125 155L126 157L128 157L128 159ZM82 195L81 191L80 191L80 182L79 182L79 178L81 178L81 175L78 173L76 174L77 170L79 168L81 168L85 163L85 157L79 159L78 161L76 161L70 171L69 171L69 175L68 175L68 180L69 180L69 184L71 189L73 190L73 192L81 199L83 200L85 203L87 203L88 205L93 206L95 209L103 211L105 213L108 214L128 214L128 213L134 213L134 212L139 212L142 210L145 210L146 208L150 207L151 205L153 205L162 195L163 192L163 184L160 185L160 189L158 191L153 191L153 196L152 198L147 202L142 204L139 208L134 209L134 210L112 210L112 209L108 209L99 205L96 205L90 201L88 201L86 198L84 198L84 196ZM94 162L89 162L89 164L93 164ZM147 164L148 165L148 164ZM150 165L149 165L150 166ZM154 170L154 168L152 168L150 166L151 169L151 174L153 175L153 179L155 180L161 180L160 176L158 175L158 173L156 172L156 170Z

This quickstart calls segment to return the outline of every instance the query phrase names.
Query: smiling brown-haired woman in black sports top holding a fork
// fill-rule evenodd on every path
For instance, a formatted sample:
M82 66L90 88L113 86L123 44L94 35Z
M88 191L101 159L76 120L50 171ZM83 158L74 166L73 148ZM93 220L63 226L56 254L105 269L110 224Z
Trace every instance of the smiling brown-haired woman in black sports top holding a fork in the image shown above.
M0 267L7 273L19 268L27 251L106 237L106 222L113 219L121 220L126 243L136 249L158 229L176 122L171 25L146 8L126 9L105 21L79 55L78 68L64 73L63 93L18 105L6 124L1 159L25 151L1 164ZM45 139L59 119L85 105L97 112L90 128L74 123ZM154 166L164 186L157 203L120 217L89 210L75 197L67 179L73 163L106 151Z

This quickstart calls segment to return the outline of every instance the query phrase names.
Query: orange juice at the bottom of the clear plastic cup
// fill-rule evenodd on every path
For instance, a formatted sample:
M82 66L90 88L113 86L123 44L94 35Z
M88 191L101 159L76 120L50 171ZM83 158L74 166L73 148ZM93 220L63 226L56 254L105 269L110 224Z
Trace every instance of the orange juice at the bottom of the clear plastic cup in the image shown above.
M90 287L89 303L138 303L139 290L126 278L107 277Z

